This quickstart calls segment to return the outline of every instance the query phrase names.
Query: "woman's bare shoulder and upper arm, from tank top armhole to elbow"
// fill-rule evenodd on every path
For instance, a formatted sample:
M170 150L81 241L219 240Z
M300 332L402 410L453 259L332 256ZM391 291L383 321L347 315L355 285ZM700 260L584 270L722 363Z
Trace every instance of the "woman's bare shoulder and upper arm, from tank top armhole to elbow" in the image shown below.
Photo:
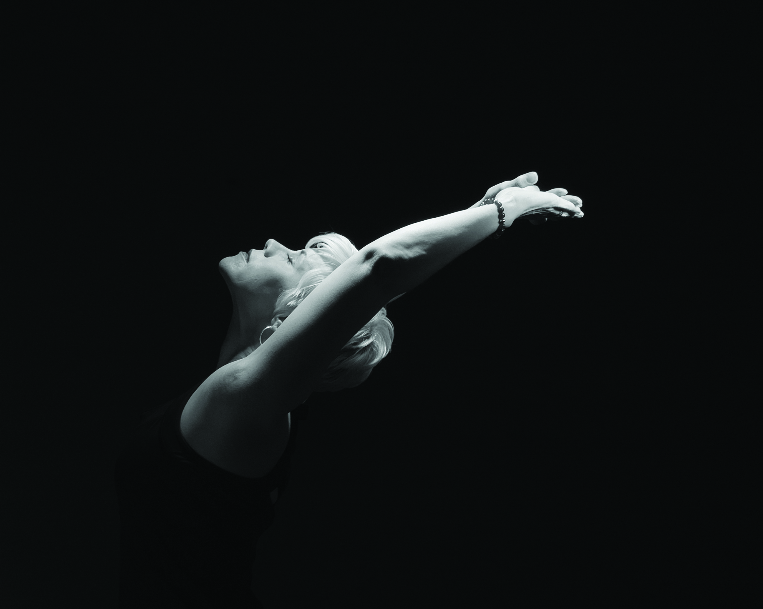
M310 395L353 335L397 295L388 271L381 272L384 259L370 246L357 252L262 346L204 380L180 419L188 444L229 471L267 473L288 444L288 413Z

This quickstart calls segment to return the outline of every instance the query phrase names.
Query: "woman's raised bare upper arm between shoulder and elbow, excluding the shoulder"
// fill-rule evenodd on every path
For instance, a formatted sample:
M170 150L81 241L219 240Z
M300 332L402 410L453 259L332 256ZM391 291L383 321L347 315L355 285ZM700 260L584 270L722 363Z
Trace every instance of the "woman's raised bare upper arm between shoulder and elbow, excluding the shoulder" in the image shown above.
M224 367L229 412L241 422L275 424L310 395L350 338L396 296L386 287L382 275L387 265L380 260L374 249L357 252L321 282L262 346Z

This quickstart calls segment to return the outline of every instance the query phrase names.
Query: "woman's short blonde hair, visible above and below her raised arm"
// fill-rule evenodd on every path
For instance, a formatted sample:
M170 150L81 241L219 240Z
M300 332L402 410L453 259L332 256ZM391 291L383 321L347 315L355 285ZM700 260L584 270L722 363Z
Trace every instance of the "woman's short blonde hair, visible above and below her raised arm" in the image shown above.
M273 310L273 322L278 317L288 317L307 296L320 285L344 261L358 252L352 241L336 232L322 232L307 242L308 248L324 259L324 264L307 271L292 290L278 295ZM359 386L371 375L371 370L392 349L394 325L387 317L387 309L381 307L340 351L329 364L314 391L340 391Z

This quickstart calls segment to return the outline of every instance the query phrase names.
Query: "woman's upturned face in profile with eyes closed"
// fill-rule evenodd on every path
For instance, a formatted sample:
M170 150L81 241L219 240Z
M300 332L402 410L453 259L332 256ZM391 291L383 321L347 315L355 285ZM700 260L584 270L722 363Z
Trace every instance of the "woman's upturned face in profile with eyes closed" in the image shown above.
M315 245L320 247L320 243ZM217 268L230 290L242 324L264 323L264 328L272 319L279 293L297 287L304 273L321 264L323 259L314 247L295 251L275 239L268 239L265 249L251 249L223 258Z

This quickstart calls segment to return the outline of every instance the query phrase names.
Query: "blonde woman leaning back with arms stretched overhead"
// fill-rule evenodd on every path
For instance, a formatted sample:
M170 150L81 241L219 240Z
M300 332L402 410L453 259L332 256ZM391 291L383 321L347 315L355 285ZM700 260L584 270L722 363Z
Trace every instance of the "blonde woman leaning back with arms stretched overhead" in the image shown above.
M224 258L233 316L214 373L146 413L120 454L120 607L261 607L254 550L288 482L291 413L313 391L357 386L390 351L385 305L520 216L581 217L581 200L534 172L461 212L360 251L324 233L293 251ZM494 197L494 199L493 199ZM369 321L370 320L370 321Z

